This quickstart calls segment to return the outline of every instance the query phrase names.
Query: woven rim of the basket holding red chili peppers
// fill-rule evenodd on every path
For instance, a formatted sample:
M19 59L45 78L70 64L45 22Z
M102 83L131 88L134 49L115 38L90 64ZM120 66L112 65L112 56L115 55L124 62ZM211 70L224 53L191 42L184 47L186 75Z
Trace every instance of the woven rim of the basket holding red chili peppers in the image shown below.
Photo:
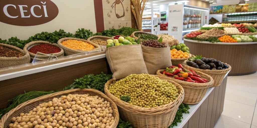
M164 69L159 69L157 70L156 74L161 76L161 77L165 77L167 79L170 79L172 81L175 81L177 82L178 84L180 84L183 88L197 88L197 89L205 89L205 88L209 88L210 86L213 85L213 78L211 76L209 76L208 74L205 74L203 72L200 72L200 71L195 71L196 74L198 74L199 76L201 76L201 78L203 76L206 76L208 79L209 82L207 83L194 83L194 82L187 82L187 81L182 81L182 80L177 80L177 79L174 79L174 78L170 78L168 76L165 76L163 74L160 73L160 71L163 71Z

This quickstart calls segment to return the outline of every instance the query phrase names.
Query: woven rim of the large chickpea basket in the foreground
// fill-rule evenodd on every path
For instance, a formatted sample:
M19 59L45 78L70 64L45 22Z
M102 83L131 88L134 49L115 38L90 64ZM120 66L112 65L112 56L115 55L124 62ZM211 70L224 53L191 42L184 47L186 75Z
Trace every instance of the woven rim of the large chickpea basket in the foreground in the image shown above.
M34 98L34 99L31 99L29 101L26 101L24 103L21 103L19 104L16 108L10 110L8 113L6 113L2 119L0 120L0 127L4 127L4 123L7 121L7 119L14 113L16 112L17 110L20 110L21 108L25 107L27 104L32 104L34 102L38 102L38 101L42 101L42 103L44 102L44 99L47 99L49 97L53 97L56 95L68 95L69 93L71 92L80 92L80 91L85 91L85 92L90 92L90 93L93 93L95 95L98 95L99 97L101 98L104 98L106 101L110 102L112 108L113 108L113 116L114 117L114 123L111 125L110 128L116 128L117 125L118 125L118 121L119 121L119 112L118 112L118 108L117 108L117 105L110 99L108 98L104 93L98 91L98 90L95 90L95 89L70 89L70 90L66 90L66 91L60 91L60 92L56 92L56 93L51 93L51 94L48 94L48 95L43 95L41 97L38 97L38 98Z

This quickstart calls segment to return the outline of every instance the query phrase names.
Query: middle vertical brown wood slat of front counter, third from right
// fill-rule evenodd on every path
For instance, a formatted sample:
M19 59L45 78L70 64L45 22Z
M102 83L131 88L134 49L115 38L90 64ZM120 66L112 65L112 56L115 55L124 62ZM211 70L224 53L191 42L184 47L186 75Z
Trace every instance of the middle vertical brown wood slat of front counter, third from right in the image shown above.
M210 128L210 122L212 120L213 100L214 100L214 90L209 95L206 124L205 124L206 128Z

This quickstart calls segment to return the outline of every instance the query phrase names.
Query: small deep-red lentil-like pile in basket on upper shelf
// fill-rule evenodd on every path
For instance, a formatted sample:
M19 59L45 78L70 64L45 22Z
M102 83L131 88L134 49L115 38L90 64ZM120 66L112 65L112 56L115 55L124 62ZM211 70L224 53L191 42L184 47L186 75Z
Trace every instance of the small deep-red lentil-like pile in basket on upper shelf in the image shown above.
M30 48L29 52L32 52L34 54L36 54L37 52L42 52L44 54L53 54L53 53L57 53L60 52L61 49L54 46L54 45L50 45L50 44L40 44L40 45L36 45L33 46L32 48Z

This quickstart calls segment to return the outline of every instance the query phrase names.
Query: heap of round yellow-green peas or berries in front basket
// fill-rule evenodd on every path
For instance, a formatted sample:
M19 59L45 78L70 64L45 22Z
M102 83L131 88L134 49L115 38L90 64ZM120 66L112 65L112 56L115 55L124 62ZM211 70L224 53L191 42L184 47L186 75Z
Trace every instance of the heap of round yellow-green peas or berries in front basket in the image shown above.
M111 84L108 90L117 98L130 96L128 103L144 108L168 104L179 95L175 85L150 74L131 74Z

